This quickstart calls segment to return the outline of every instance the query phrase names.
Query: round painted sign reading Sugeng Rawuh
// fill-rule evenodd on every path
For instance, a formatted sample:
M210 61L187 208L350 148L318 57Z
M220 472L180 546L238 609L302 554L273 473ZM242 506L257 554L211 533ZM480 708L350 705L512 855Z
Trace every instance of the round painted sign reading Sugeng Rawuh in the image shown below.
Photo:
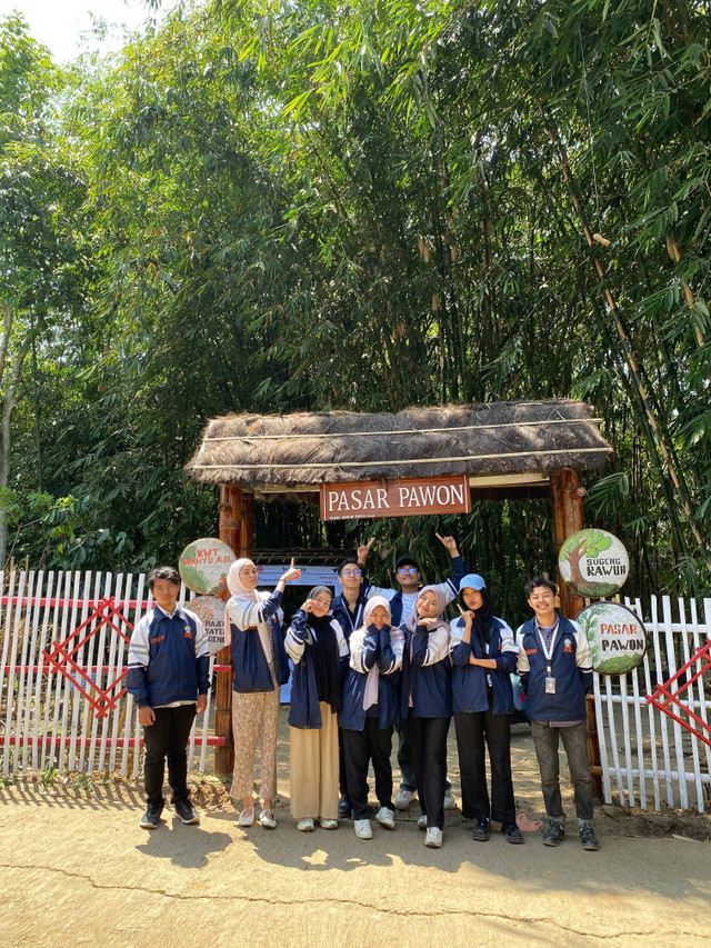
M630 575L624 546L607 530L578 530L558 555L560 573L579 596L612 596Z

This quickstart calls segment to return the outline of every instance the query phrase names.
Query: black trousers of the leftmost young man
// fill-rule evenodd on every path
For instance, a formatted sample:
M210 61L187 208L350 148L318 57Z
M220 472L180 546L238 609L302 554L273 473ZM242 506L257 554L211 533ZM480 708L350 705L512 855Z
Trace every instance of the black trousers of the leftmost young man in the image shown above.
M168 782L173 791L171 804L189 800L188 791L188 740L196 717L196 706L180 705L177 708L153 708L156 720L143 728L143 786L149 805L163 805L163 774L168 758Z

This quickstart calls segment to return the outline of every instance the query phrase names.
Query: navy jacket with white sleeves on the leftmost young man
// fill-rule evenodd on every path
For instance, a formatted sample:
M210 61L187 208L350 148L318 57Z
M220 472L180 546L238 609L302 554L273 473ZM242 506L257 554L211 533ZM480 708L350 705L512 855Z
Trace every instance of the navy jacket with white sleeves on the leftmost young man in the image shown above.
M131 636L126 688L139 708L194 701L210 689L210 650L202 623L178 607L172 618L158 607Z

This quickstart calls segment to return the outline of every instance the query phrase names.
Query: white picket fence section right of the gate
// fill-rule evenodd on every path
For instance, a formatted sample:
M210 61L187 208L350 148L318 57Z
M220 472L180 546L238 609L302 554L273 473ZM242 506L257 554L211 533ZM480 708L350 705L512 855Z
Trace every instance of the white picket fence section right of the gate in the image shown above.
M659 811L665 804L708 811L711 809L711 747L648 703L645 696L652 695L657 683L675 675L707 643L707 638L711 637L711 599L703 600L703 621L693 600L677 600L677 618L668 596L661 603L653 596L649 610L642 608L639 599L624 601L642 619L651 640L643 662L634 671L594 676L604 799L612 802L613 791L617 791L623 806ZM685 677L691 679L702 665L694 662ZM710 687L711 675L707 672L680 696L682 705L704 722L711 719ZM679 708L672 709L687 720Z

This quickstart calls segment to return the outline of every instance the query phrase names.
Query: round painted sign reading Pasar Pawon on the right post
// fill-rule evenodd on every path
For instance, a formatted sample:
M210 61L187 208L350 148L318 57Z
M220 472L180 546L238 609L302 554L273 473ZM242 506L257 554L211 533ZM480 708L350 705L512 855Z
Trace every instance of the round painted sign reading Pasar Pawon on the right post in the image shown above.
M624 675L642 661L647 651L647 629L627 606L593 602L575 621L582 627L592 656L592 667L603 675Z

